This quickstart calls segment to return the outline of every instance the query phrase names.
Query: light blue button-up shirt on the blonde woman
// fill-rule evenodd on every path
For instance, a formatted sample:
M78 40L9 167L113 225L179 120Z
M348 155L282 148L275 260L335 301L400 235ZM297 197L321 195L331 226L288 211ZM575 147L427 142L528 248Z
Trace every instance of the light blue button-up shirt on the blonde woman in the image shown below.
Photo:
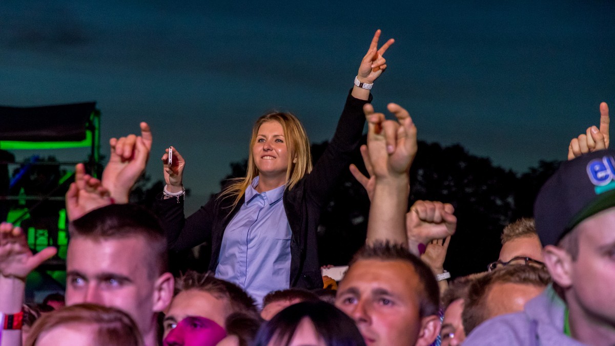
M216 278L236 283L256 299L290 286L290 238L292 232L282 195L285 186L259 194L245 191L245 202L224 230Z

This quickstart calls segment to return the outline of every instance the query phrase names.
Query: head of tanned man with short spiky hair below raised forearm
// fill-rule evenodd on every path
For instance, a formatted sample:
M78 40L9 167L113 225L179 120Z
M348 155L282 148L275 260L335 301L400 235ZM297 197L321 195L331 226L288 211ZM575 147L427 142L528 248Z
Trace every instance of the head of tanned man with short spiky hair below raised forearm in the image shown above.
M368 345L430 345L440 332L434 273L404 246L375 242L355 254L335 306Z

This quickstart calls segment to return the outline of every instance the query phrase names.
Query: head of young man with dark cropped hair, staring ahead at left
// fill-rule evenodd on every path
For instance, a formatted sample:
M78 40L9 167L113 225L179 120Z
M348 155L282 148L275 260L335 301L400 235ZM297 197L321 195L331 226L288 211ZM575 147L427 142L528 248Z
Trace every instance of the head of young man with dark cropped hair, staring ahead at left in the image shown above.
M157 342L157 313L172 297L167 240L156 216L114 204L71 224L66 253L66 305L117 307L132 317L146 344Z

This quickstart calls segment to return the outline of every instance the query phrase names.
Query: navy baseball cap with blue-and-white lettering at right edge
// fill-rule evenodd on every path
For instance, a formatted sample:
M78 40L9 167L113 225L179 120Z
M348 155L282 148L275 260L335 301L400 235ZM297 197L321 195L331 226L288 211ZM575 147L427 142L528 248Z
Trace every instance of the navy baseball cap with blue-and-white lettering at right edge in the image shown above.
M600 150L561 163L534 203L542 246L557 245L584 219L615 206L615 151Z

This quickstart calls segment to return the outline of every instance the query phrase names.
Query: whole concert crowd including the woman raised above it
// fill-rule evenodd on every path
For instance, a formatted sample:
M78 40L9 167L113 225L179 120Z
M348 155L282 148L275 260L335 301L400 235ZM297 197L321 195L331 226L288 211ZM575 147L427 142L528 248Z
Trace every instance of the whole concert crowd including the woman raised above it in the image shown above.
M448 203L408 206L417 129L390 103L370 102L387 67L376 31L335 135L312 167L308 137L290 113L258 118L248 170L186 218L175 147L162 155L166 186L152 210L129 204L153 135L112 138L101 179L75 168L66 194L70 241L65 307L23 304L25 278L54 256L0 225L1 346L18 345L614 345L615 152L609 116L569 146L542 187L534 219L502 232L485 272L451 278L456 229ZM367 145L359 146L367 120ZM367 175L350 165L360 151ZM365 246L344 277L323 277L320 211L349 169L371 205ZM352 203L352 201L348 201ZM454 241L454 238L453 238ZM206 243L208 272L173 277L169 252ZM45 306L49 306L45 304ZM53 310L53 311L51 311Z

